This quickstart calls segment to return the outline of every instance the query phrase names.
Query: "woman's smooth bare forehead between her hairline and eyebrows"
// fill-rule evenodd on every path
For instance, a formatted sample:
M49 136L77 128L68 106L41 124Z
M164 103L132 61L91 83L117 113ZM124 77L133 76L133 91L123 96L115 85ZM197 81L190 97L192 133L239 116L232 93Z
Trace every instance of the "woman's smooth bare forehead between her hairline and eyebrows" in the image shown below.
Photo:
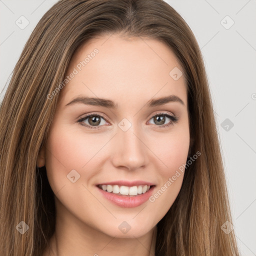
M174 80L170 75L173 68L182 70L161 41L119 35L93 38L74 52L66 75L75 75L61 90L61 101L67 103L81 94L120 103L175 94L186 105L184 78Z

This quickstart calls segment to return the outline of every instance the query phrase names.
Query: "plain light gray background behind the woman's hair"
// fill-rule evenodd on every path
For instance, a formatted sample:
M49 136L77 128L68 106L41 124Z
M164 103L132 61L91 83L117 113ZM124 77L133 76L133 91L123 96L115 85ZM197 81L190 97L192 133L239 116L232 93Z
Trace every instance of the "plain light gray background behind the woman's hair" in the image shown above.
M217 118L234 232L242 256L256 255L256 0L166 1L188 23L201 48ZM0 0L0 100L31 31L55 2ZM21 23L21 15L29 21L24 29L15 23ZM232 20L234 24L229 27Z

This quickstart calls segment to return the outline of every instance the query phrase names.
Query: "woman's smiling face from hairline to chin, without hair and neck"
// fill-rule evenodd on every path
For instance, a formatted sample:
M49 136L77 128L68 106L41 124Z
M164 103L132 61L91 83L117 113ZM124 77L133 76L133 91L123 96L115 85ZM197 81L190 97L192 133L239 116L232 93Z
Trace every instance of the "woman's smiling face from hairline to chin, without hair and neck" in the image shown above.
M45 150L57 217L68 216L81 230L139 237L165 215L183 172L172 176L189 148L180 70L172 51L154 39L112 35L78 48ZM157 101L171 95L180 100Z

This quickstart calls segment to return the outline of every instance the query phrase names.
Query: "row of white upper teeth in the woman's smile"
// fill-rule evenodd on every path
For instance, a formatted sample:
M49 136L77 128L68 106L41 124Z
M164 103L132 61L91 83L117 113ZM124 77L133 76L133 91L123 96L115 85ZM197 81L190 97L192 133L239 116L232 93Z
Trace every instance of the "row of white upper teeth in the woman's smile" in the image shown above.
M115 194L123 195L137 195L145 193L149 190L150 186L148 185L139 185L139 186L118 186L118 185L99 185L104 191L109 193L113 192Z

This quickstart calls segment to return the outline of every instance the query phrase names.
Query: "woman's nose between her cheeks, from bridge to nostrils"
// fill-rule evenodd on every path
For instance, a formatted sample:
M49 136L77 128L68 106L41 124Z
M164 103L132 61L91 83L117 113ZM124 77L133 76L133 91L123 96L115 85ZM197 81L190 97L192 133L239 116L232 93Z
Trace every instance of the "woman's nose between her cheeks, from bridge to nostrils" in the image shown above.
M127 131L118 128L113 139L112 164L117 168L136 170L148 162L148 148L144 136L131 126Z

